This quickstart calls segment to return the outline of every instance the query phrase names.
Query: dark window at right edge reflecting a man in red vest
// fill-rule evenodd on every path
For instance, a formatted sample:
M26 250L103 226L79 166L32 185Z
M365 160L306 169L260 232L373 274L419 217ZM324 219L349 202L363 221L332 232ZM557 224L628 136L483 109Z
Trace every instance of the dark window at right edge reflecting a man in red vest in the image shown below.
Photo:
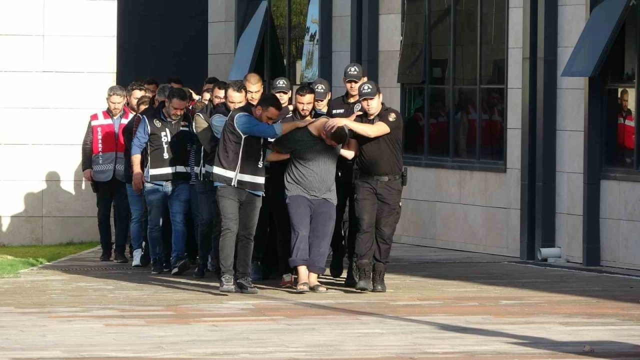
M605 2L607 4L610 2ZM596 7L593 13L600 8ZM602 122L602 149L604 172L635 171L639 169L636 147L637 110L637 42L638 6L630 11L620 24L618 33L607 52L601 74L605 79L604 121ZM600 11L602 13L602 11ZM592 15L593 16L593 15ZM585 26L584 31L588 31ZM583 31L583 35L584 35ZM581 35L582 38L582 35ZM566 69L565 69L566 71Z

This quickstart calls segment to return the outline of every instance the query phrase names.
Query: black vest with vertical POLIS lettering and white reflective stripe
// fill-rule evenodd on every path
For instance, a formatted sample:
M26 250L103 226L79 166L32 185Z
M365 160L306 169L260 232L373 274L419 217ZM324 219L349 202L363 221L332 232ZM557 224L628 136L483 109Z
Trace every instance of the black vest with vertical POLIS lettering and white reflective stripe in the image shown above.
M189 181L191 116L185 113L182 120L165 121L160 115L163 108L147 117L149 181Z

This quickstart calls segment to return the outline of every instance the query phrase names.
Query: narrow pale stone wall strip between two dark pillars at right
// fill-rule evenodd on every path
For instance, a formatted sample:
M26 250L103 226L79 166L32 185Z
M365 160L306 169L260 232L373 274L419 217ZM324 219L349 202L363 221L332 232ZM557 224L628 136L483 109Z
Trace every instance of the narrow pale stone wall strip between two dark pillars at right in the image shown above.
M558 4L556 123L556 246L563 257L582 262L584 166L584 78L562 78L566 61L586 22L586 1Z

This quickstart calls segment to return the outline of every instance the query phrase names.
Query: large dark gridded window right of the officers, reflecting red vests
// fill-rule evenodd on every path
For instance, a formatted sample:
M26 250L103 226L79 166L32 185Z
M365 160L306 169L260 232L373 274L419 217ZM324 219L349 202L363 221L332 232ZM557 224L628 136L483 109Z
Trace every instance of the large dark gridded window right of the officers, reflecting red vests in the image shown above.
M507 4L403 0L407 163L504 170Z

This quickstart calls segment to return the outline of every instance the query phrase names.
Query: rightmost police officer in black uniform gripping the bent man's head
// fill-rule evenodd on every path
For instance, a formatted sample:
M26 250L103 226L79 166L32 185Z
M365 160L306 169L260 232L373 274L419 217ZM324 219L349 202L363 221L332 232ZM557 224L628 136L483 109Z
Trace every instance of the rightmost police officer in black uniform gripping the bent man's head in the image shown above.
M332 119L326 127L347 126L353 132L349 148L358 149L355 211L358 217L356 290L385 292L385 268L396 225L400 220L403 188L403 120L382 102L380 88L366 81L358 88L364 114L356 121ZM357 143L357 146L356 144Z

